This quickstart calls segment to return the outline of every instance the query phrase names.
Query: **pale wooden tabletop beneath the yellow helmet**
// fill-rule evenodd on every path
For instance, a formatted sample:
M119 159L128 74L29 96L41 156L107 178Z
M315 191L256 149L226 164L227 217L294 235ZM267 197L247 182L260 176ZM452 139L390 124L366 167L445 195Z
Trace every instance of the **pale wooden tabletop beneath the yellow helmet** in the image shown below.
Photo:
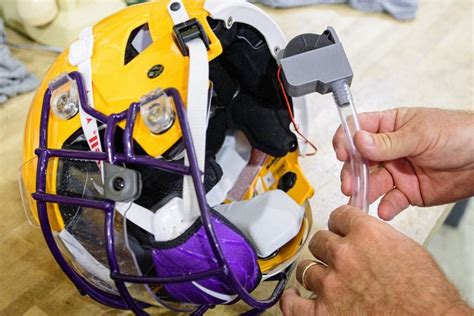
M352 63L352 91L359 112L397 106L473 109L473 48L471 0L421 0L418 18L398 22L383 14L363 14L346 6L313 6L290 10L265 9L289 38L303 32L335 27ZM8 32L12 42L27 40ZM39 78L55 55L12 50ZM41 233L26 222L18 193L23 125L33 93L0 105L0 314L1 315L115 315L83 298L53 262ZM323 229L330 212L346 202L339 191L339 169L331 147L339 124L330 96L308 98L311 139L318 145L314 158L303 160L316 189L311 200L314 229ZM392 224L421 244L444 220L449 206L410 208ZM376 205L371 208L371 213ZM304 256L309 256L305 251ZM295 281L292 280L291 283ZM259 289L258 295L269 288ZM238 304L210 314L245 311ZM268 312L279 314L277 308Z

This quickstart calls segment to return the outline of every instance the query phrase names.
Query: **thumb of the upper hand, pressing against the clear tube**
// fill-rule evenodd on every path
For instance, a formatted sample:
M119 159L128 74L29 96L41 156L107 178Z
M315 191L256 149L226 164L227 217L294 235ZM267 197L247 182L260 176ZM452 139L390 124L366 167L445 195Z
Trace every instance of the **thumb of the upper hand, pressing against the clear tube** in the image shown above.
M372 134L359 131L354 142L362 156L372 161L395 160L416 153L416 135L399 130L390 133Z

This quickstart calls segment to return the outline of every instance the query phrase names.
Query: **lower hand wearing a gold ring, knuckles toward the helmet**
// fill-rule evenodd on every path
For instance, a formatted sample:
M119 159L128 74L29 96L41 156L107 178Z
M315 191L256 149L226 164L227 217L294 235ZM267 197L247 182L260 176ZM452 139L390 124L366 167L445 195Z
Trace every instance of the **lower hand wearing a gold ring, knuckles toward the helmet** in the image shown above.
M311 253L327 266L302 261L297 280L316 294L287 289L280 308L289 315L437 315L472 311L426 250L387 223L351 206L336 209L330 231L318 231Z

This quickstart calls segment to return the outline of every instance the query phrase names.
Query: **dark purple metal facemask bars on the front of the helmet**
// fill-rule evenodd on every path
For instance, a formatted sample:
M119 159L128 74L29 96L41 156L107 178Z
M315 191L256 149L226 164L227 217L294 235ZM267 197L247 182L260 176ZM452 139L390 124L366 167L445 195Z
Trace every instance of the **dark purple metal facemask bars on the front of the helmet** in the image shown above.
M93 299L95 299L101 304L118 309L130 309L138 315L146 315L146 312L143 310L143 308L149 307L149 305L132 298L129 291L127 290L127 287L125 286L125 282L135 284L165 284L197 281L199 279L209 278L213 276L224 276L228 285L232 287L232 289L236 292L236 294L238 294L238 296L243 301L245 301L248 305L254 307L255 311L262 312L265 309L273 306L278 301L281 296L281 293L285 288L292 267L289 267L287 270L281 273L281 275L279 276L280 280L276 285L272 295L266 300L257 300L252 297L250 293L240 284L233 271L229 268L229 265L225 256L223 255L219 240L216 236L211 221L211 215L206 202L206 193L204 185L200 180L203 172L198 168L196 152L194 149L194 144L191 138L192 135L190 133L186 117L186 110L179 92L174 88L169 88L165 90L166 94L174 100L178 120L183 134L186 152L189 157L189 167L179 165L173 162L162 161L149 156L136 156L134 154L133 148L133 129L137 113L139 113L140 110L140 103L132 103L127 110L118 114L106 116L88 106L81 74L78 72L71 72L69 73L69 76L77 82L80 103L83 110L87 114L91 115L95 119L107 125L106 133L104 136L105 152L82 152L74 150L49 149L47 147L47 126L50 115L50 100L52 96L52 91L50 89L47 89L43 98L43 108L40 121L39 148L35 150L35 153L38 156L38 168L36 174L36 192L33 193L32 196L37 201L38 217L45 241L56 262L61 267L63 272L69 277L69 279L76 285L79 292L82 295L91 296ZM124 120L127 120L123 138L125 154L120 154L117 153L114 148L114 135L117 124ZM198 197L202 224L206 231L211 249L215 255L219 268L200 273L194 273L192 275L178 275L172 277L147 277L122 274L119 269L114 246L113 225L115 203L113 201L108 200L97 201L47 194L46 172L48 168L48 161L50 158L53 157L78 160L107 161L112 164L141 164L183 176L191 175L193 178L193 184L196 190L196 195ZM104 211L104 229L105 236L107 239L106 253L109 267L111 270L110 277L112 280L114 280L115 286L119 291L120 296L109 294L96 288L94 285L90 284L84 278L82 278L76 271L74 271L69 266L54 240L47 214L47 202L87 207ZM201 306L198 310L195 311L195 313L202 314L208 308L209 306Z

